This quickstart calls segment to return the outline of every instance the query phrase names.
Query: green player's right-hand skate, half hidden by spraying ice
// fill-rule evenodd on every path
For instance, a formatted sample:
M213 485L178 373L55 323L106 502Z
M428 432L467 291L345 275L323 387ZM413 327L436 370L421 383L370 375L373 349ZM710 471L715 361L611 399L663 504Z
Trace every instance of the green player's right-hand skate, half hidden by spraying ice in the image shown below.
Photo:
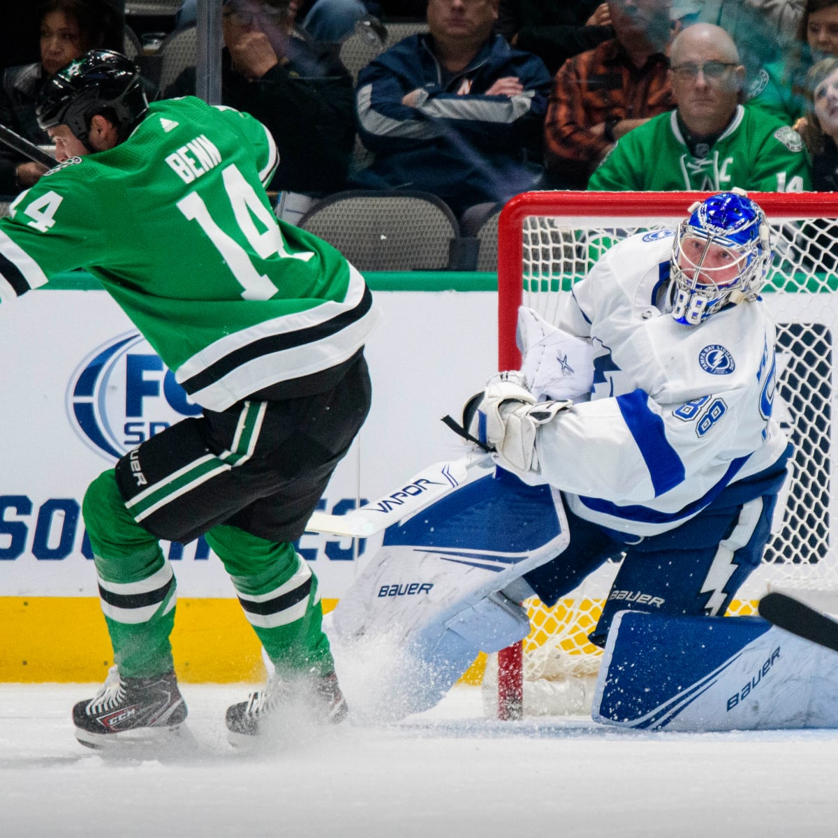
M297 722L339 724L348 712L334 672L273 673L247 701L227 708L227 740L231 745L252 747Z

